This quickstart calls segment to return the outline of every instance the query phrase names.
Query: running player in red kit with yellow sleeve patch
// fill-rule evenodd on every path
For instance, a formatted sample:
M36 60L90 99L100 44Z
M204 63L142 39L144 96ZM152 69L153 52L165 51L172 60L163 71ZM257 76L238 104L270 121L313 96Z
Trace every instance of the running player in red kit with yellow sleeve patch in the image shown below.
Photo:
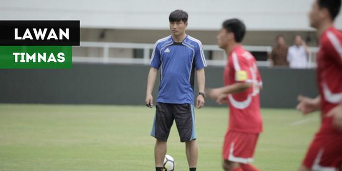
M238 19L223 22L217 42L229 56L224 70L225 86L208 91L218 104L229 105L229 127L222 153L224 170L258 170L249 163L253 161L262 131L259 101L262 82L255 58L241 46L245 32L245 25Z

